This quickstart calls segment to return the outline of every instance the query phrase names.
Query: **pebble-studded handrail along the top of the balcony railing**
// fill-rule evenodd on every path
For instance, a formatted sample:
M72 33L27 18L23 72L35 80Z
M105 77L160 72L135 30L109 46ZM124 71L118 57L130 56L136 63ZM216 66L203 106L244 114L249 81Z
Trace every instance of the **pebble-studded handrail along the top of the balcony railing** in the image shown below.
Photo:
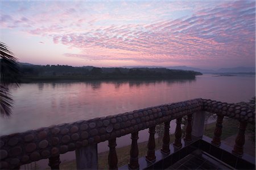
M14 168L199 111L217 113L249 123L255 122L255 109L248 105L193 99L2 136L1 164Z

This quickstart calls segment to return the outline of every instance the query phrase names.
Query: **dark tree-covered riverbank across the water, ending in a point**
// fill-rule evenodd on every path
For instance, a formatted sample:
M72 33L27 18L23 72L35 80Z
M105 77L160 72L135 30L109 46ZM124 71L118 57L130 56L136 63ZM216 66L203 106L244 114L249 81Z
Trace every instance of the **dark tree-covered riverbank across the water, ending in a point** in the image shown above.
M99 68L92 66L72 67L61 65L24 65L21 64L22 82L58 81L58 80L101 80L101 79L195 79L201 75L195 71L170 70L164 68L121 67Z

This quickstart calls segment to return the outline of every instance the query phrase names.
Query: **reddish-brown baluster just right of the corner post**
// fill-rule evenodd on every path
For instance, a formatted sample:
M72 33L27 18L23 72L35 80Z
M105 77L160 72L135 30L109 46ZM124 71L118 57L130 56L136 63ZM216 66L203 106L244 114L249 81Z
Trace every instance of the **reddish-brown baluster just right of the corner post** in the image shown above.
M222 133L222 122L223 122L224 116L218 115L217 122L216 122L216 128L214 130L214 135L212 139L212 144L216 146L220 146L221 144L221 133Z

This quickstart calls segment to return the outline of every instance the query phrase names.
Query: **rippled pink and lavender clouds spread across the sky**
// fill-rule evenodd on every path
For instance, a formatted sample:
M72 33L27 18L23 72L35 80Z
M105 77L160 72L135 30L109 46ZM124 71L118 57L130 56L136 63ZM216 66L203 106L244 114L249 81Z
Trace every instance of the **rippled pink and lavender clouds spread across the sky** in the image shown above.
M122 5L132 8L125 2ZM2 28L20 28L35 36L47 36L56 45L63 44L81 51L65 53L65 57L158 63L230 62L234 65L254 61L254 1L229 1L213 7L203 4L197 5L196 9L180 5L174 11L188 11L185 14L189 15L176 18L166 18L168 8L161 11L160 6L151 8L154 15L149 14L146 9L152 5L134 4L144 8L138 12L138 18L133 12L114 17L113 11L122 13L118 8L110 12L105 5L96 10L94 6L81 9L79 4L64 4L64 7L52 4L48 9L50 13L41 11L35 16L21 16L19 19L1 15L0 25ZM56 12L59 9L60 12ZM154 21L145 21L148 16Z

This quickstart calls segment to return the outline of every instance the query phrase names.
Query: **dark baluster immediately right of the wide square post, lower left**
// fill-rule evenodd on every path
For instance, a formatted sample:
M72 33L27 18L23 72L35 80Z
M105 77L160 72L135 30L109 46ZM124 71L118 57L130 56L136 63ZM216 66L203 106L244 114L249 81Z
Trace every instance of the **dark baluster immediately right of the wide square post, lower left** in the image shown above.
M115 142L115 138L109 139L109 169L117 169L117 152L115 151L115 146L117 143Z

